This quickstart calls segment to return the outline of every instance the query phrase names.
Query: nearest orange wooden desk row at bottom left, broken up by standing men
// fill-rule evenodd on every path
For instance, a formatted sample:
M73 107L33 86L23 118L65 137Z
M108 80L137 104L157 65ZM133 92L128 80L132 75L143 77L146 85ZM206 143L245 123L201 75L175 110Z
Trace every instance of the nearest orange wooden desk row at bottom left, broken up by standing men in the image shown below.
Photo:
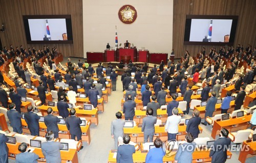
M7 146L9 148L9 159L15 159L16 155L20 152L18 151L18 146L20 143L16 144L10 144L7 143ZM33 147L29 147L33 148ZM33 153L37 154L39 156L39 159L37 162L46 162L46 159L44 155L42 154L41 148L34 148L35 150ZM60 157L61 157L61 163L66 163L67 160L71 160L74 163L78 163L78 156L76 149L69 149L68 151L60 150Z

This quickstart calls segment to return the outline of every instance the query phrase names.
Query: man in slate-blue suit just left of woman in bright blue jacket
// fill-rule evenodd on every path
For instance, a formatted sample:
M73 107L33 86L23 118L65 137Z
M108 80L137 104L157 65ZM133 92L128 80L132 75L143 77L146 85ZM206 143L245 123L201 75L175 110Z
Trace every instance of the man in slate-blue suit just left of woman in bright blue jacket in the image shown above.
M212 117L212 114L215 111L215 105L217 103L217 97L216 97L216 92L211 92L211 98L208 99L206 107L205 107L205 119L204 122L201 124L207 125L206 117Z

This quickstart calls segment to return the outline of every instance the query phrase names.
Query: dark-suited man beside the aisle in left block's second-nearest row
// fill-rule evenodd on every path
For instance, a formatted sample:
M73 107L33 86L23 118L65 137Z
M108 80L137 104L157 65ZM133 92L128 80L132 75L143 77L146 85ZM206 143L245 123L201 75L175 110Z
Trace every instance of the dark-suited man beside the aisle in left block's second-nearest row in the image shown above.
M70 117L66 118L66 125L71 134L71 139L75 140L76 138L77 141L80 141L82 139L82 130L80 127L82 121L79 117L76 117L76 110L74 108L72 108L69 113ZM82 148L83 146L80 149Z

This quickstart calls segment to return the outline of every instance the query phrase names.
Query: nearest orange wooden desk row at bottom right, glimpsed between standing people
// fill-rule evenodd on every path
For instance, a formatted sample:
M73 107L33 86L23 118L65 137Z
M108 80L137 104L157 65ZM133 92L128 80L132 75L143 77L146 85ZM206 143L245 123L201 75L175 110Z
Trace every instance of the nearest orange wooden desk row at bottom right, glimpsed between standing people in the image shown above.
M193 161L192 162L210 162L211 161L211 157L209 157L210 151L195 151L192 156L193 156ZM112 153L110 151L109 154L109 158L108 158L108 162L116 162L116 158L113 158L114 153ZM133 161L134 162L145 162L146 160L146 155L147 153L141 153L141 151L136 151L133 154ZM230 159L232 156L232 153L227 151L227 158ZM174 158L175 155L172 155L170 157L163 157L163 162L170 162L170 163L174 163ZM199 161L200 160L200 161Z

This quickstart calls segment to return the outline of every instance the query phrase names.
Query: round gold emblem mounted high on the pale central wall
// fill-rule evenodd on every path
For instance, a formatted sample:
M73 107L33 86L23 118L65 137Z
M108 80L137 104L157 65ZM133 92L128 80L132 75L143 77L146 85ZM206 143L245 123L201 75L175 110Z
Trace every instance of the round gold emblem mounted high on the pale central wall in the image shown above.
M124 5L119 9L118 17L123 23L131 24L137 18L137 11L131 5Z

